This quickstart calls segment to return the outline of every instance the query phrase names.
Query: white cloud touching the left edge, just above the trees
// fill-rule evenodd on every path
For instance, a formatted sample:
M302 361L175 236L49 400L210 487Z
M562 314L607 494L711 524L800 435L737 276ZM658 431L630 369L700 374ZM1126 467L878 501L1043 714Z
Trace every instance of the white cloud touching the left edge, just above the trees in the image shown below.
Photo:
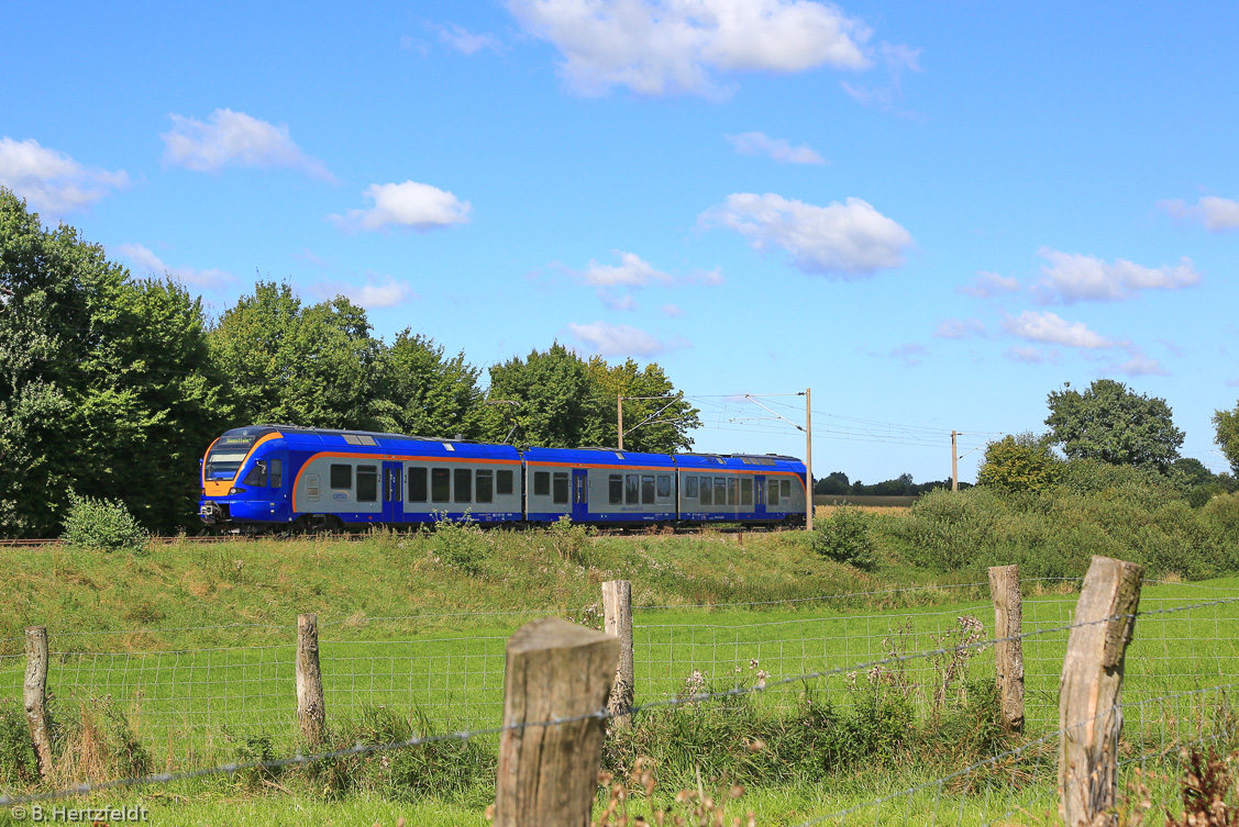
M129 173L124 170L84 167L33 139L0 137L0 186L25 198L36 210L66 215L128 184Z

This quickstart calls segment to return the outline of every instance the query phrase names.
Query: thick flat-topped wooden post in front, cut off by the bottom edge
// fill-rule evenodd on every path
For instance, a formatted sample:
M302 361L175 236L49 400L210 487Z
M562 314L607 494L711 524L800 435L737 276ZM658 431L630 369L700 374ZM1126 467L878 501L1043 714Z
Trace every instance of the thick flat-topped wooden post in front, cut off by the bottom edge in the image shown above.
M560 618L508 639L496 827L589 827L602 763L602 719L620 640Z

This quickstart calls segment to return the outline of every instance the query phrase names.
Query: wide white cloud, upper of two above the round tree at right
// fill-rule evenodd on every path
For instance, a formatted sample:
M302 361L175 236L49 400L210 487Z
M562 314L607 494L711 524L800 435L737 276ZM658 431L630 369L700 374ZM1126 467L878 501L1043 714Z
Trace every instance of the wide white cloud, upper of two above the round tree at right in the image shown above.
M1044 303L1118 301L1131 298L1141 290L1180 290L1201 281L1201 274L1187 258L1173 267L1152 269L1124 259L1106 264L1090 255L1059 253L1049 248L1041 248L1037 253L1049 262L1042 265L1044 279L1033 287L1035 295Z

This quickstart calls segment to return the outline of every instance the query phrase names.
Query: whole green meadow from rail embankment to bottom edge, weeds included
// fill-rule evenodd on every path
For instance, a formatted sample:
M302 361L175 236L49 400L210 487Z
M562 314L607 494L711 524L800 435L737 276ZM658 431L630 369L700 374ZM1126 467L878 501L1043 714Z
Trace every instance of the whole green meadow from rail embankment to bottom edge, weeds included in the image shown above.
M876 515L875 531L904 516ZM644 708L608 740L605 769L623 777L637 755L659 768L632 813L675 810L700 775L707 794L743 786L726 817L751 810L760 825L839 823L839 812L846 823L1054 823L1049 735L1078 581L1022 583L1027 727L1010 737L994 727L984 571L911 565L895 536L877 534L878 563L865 568L815 553L803 532L465 530L15 553L0 584L12 607L0 619L5 791L57 786L22 775L5 747L20 735L25 625L48 626L56 781L68 785L305 750L294 688L302 612L318 615L328 749L493 729L507 638L548 614L601 625L601 583L624 578ZM1160 802L1176 795L1182 745L1234 740L1239 578L1149 579L1120 755L1124 782L1152 773ZM732 690L742 692L684 702ZM103 747L88 754L87 735ZM142 803L152 823L484 825L497 742L481 732L88 800Z

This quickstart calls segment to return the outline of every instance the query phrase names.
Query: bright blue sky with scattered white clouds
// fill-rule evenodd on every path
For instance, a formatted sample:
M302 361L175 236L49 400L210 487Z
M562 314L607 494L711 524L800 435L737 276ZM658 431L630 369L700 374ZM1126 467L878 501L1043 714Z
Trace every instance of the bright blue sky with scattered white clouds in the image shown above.
M704 451L950 472L1046 395L1239 399L1239 5L20 4L0 184L218 312L658 362ZM769 407L804 422L803 399ZM980 451L960 463L975 477Z

